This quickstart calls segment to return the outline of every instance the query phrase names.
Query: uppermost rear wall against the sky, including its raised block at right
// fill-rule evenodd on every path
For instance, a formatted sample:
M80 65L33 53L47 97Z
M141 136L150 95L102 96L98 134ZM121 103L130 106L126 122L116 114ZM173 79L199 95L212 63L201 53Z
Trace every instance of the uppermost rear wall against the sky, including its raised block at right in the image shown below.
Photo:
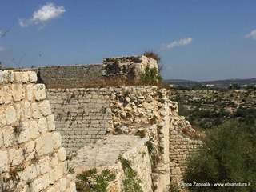
M102 65L44 66L38 68L38 82L47 88L96 87L113 78L134 82L147 66L158 70L156 60L146 56L104 58Z

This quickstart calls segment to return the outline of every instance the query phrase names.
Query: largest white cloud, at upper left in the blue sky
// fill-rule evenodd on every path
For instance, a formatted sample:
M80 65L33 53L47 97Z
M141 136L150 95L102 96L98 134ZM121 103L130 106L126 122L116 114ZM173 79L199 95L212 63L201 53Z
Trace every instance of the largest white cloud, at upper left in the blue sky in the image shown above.
M47 3L39 10L34 11L31 18L19 19L19 25L22 27L46 23L54 18L60 17L65 13L64 6L55 6L54 3Z

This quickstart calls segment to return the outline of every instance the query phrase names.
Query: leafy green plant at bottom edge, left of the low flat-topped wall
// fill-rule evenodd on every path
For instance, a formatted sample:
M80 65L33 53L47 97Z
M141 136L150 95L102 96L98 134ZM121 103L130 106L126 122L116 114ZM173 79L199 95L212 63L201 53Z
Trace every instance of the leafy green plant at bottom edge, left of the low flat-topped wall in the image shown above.
M76 187L79 192L107 192L115 177L111 170L102 170L100 174L96 169L86 170L77 175Z

